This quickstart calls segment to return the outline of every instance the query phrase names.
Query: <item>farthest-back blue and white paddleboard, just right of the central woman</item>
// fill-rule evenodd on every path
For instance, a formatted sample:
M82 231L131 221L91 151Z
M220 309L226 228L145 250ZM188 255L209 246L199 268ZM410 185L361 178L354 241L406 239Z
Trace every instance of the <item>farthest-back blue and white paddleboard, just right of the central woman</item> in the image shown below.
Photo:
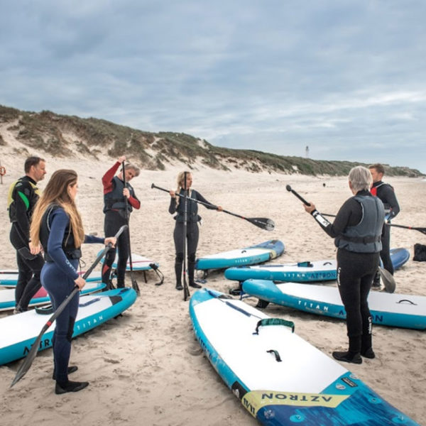
M245 249L224 251L197 258L195 269L224 269L231 266L255 265L270 261L280 256L284 251L284 244L279 240L268 240Z

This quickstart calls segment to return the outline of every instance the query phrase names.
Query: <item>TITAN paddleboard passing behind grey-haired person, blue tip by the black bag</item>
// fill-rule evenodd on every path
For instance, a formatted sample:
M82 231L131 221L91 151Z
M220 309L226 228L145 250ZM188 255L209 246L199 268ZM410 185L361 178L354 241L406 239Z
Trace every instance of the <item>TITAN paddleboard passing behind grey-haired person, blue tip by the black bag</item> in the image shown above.
M408 258L410 258L410 252L407 249L391 249L391 261L395 269L403 266ZM238 281L252 278L256 280L293 281L294 283L337 280L337 262L335 259L328 259L284 263L283 265L267 263L261 266L243 266L226 269L225 278Z

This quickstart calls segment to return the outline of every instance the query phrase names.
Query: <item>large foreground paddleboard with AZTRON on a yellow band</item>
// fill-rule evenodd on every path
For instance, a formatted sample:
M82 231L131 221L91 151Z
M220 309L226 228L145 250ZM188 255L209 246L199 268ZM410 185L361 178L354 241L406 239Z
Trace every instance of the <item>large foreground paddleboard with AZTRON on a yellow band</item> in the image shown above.
M420 426L291 322L207 289L192 295L190 317L207 359L262 425Z

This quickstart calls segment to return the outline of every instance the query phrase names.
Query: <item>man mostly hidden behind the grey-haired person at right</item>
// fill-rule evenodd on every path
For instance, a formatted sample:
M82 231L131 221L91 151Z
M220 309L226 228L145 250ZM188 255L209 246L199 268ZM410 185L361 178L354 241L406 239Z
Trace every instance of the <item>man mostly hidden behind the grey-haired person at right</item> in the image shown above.
M376 195L382 202L385 207L385 219L388 223L391 222L399 212L400 207L398 200L396 200L395 191L393 187L388 183L382 182L383 175L385 174L385 168L381 164L372 164L368 166L370 169L371 176L373 176L373 186L371 187L371 194ZM383 268L386 271L389 271L393 275L393 264L391 261L391 226L386 225L386 222L383 224L382 229L382 250L380 252L380 257L383 262ZM373 288L380 288L380 274L376 273L376 276L373 280Z

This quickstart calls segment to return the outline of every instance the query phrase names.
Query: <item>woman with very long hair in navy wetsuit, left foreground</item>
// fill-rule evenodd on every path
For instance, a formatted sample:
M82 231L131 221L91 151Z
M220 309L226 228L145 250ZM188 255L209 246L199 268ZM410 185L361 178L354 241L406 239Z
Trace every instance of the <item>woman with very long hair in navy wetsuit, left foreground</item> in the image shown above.
M80 247L83 243L115 244L115 238L97 238L84 235L82 218L75 205L77 173L74 170L56 170L35 204L31 222L31 251L41 245L45 265L41 270L41 284L48 291L53 309L70 295L77 285L80 290L86 282L77 273ZM72 298L56 319L53 333L53 378L55 393L77 392L88 382L68 380L68 374L77 366L68 366L71 338L77 317L79 293Z

